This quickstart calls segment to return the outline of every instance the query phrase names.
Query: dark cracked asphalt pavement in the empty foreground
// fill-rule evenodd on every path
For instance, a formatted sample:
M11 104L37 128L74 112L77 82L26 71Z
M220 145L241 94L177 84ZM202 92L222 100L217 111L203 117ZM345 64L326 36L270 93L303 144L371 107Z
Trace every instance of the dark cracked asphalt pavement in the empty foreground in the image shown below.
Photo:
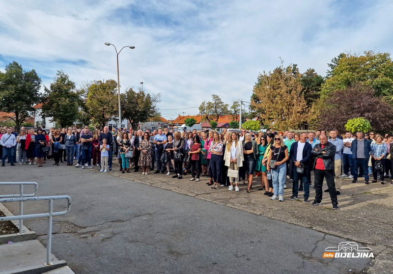
M322 258L325 248L348 239L112 176L115 171L65 164L1 171L2 181L37 182L38 195L71 196L71 212L54 218L52 253L77 274L362 273L371 263ZM5 206L17 213L17 204ZM47 207L31 203L25 213ZM25 225L46 242L47 220Z

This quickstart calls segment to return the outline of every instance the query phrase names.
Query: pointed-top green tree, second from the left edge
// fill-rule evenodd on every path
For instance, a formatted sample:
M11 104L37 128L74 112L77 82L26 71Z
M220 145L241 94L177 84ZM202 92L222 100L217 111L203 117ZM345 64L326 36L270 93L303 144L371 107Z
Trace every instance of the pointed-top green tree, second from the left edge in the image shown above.
M75 82L63 71L57 71L50 88L45 87L43 102L42 114L53 117L52 121L59 123L60 127L71 126L78 118L80 95L75 88Z

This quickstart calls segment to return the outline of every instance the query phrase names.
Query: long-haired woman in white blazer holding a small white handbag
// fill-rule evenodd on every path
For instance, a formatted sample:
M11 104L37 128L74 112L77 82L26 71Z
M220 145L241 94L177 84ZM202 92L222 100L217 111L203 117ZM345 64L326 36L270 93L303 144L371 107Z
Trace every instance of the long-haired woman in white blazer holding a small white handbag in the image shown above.
M239 167L243 166L244 156L243 156L243 144L239 141L239 137L235 132L229 132L230 139L226 142L225 152L224 152L224 162L228 167L228 173L230 170L239 170ZM229 176L228 176L229 177ZM237 177L229 177L230 186L228 191L233 190L233 180L235 180L235 191L239 191L237 184L239 183L239 173Z

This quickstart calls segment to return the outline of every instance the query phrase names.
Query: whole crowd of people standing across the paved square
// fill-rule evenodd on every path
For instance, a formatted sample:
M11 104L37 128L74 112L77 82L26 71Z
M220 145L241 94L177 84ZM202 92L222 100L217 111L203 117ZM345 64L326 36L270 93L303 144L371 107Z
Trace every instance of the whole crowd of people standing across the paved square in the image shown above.
M21 128L19 133L12 127L1 128L0 153L2 163L37 164L42 167L47 160L53 165L66 163L75 167L93 168L100 172L112 170L113 158L118 161L122 173L139 172L173 174L183 179L191 174L190 181L208 177L208 186L218 190L239 192L239 185L247 184L247 192L258 177L258 189L271 200L283 201L285 182L292 181L289 200L298 200L304 192L304 203L309 203L311 171L314 171L315 199L312 205L322 201L322 184L326 180L333 209L338 209L337 195L341 193L342 178L357 183L364 177L365 184L385 178L393 171L393 136L374 132L346 132L317 130L296 133L291 131L266 133L248 132L245 129L219 133L215 130L176 131L173 129L136 130L109 127L91 130L70 127L42 129ZM18 153L18 161L16 156ZM393 185L393 177L391 176Z

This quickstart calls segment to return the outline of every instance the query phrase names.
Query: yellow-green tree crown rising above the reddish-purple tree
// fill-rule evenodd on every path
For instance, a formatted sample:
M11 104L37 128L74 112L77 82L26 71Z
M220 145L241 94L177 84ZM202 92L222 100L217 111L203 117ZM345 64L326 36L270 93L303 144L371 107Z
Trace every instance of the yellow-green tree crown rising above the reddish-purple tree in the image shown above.
M331 77L322 84L321 98L354 83L369 85L377 96L393 96L393 62L389 53L364 52L363 55L341 54L331 66Z

